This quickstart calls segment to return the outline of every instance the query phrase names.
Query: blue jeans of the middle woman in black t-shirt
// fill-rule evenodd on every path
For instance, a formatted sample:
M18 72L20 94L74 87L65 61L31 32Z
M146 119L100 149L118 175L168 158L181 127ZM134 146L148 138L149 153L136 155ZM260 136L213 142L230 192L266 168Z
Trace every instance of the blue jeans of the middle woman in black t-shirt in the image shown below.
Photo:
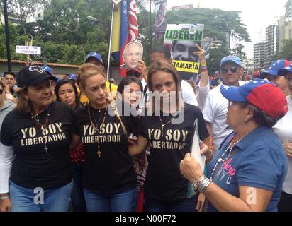
M137 194L137 187L113 195L84 189L86 209L89 212L135 212Z

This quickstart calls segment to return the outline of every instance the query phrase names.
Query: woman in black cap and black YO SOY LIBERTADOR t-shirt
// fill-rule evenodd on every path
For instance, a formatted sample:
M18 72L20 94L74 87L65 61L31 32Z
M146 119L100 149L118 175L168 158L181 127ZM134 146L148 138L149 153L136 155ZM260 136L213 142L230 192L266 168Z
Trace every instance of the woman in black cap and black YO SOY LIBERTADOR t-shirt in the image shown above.
M68 210L74 111L53 101L55 79L39 66L18 72L18 106L7 114L1 128L2 211L10 207L16 212Z

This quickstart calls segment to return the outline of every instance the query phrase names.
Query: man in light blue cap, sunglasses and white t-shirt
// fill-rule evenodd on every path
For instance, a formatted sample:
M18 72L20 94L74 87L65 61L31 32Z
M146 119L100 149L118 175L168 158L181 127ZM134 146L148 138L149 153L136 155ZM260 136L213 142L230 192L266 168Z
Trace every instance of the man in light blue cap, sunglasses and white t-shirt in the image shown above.
M232 129L226 124L228 112L228 100L220 92L221 85L240 86L244 82L240 81L242 76L242 62L238 57L224 57L220 63L222 83L210 90L203 109L203 117L206 121L210 136L213 137L213 151L217 152L222 141L228 136Z

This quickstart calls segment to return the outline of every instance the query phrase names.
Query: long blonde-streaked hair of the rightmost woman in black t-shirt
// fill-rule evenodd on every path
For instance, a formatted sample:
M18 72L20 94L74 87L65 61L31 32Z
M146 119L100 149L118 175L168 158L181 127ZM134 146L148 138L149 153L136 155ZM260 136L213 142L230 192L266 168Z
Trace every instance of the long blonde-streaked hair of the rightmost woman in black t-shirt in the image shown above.
M172 62L168 61L167 59L161 59L159 61L155 61L152 64L150 64L150 67L148 69L148 88L151 92L153 92L153 83L152 83L152 76L154 73L157 73L159 71L164 71L167 73L172 74L172 78L174 79L175 85L176 85L176 110L181 109L181 107L184 107L184 101L181 97L181 78L179 74L176 72L176 69L172 65ZM157 106L160 107L160 106ZM152 98L150 98L150 105L147 109L150 113L155 111L155 100L154 95L152 95Z

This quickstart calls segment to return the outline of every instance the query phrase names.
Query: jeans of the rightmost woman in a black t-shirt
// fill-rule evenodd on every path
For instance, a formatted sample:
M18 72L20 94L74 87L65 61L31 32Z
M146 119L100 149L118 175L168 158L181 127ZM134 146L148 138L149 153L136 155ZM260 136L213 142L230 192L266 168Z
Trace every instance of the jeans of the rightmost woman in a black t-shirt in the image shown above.
M198 197L186 198L179 203L167 203L145 198L145 210L147 212L196 212Z

